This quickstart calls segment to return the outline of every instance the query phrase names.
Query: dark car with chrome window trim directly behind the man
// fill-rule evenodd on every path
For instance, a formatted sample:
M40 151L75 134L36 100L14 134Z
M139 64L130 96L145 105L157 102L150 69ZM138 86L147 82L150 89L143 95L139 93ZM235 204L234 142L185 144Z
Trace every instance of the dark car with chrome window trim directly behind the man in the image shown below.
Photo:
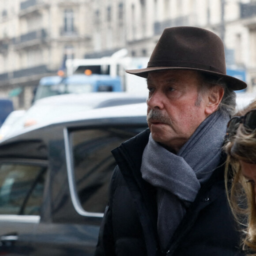
M145 103L93 109L0 143L0 255L89 256L116 165Z

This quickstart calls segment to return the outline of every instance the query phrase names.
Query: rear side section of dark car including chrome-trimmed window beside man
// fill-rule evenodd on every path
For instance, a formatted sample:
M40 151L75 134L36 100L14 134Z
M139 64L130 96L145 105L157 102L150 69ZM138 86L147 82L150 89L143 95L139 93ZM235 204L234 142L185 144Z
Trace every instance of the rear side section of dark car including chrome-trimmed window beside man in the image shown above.
M93 255L116 165L111 150L145 129L128 126L64 128L63 139L49 141L51 216L37 226L33 256Z

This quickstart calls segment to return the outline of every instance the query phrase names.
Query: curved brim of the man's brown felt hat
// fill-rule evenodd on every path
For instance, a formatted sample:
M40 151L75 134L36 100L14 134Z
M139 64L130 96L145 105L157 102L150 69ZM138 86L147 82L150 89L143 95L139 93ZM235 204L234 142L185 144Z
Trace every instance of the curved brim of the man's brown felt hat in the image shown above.
M140 77L147 78L148 72L169 70L169 69L173 69L173 70L175 70L175 69L176 70L177 69L195 70L195 71L215 75L216 77L221 78L222 81L226 82L227 87L230 88L231 90L243 90L247 87L247 84L244 81L242 81L240 79L237 79L233 76L221 74L221 73L218 73L218 72L208 71L208 70L205 70L205 69L199 69L199 68L149 67L149 68L140 68L140 69L128 69L128 70L125 70L125 72L127 72L128 74L138 75Z

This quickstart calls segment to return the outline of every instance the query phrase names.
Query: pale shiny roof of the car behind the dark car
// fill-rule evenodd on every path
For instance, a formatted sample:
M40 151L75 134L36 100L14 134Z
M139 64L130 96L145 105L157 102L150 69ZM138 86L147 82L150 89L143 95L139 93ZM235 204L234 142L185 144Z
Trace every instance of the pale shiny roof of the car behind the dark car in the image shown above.
M21 130L24 126L44 124L60 116L66 117L77 112L82 113L90 109L116 105L128 105L146 102L145 94L130 94L126 92L95 92L86 94L63 94L42 98L34 103L24 113L9 134Z

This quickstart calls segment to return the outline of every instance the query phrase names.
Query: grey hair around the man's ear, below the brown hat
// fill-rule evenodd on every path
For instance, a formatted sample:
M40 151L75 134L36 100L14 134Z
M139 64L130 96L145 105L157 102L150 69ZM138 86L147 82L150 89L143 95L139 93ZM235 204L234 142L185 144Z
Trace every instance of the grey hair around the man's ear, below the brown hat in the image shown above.
M202 78L202 83L199 88L199 95L196 104L200 105L202 95L206 91L208 91L212 87L220 86L224 89L224 95L222 101L218 105L218 110L223 115L228 115L229 117L232 117L236 110L236 93L227 87L227 84L222 80L222 78L218 78L213 75L208 75L205 73L200 73L200 76Z

